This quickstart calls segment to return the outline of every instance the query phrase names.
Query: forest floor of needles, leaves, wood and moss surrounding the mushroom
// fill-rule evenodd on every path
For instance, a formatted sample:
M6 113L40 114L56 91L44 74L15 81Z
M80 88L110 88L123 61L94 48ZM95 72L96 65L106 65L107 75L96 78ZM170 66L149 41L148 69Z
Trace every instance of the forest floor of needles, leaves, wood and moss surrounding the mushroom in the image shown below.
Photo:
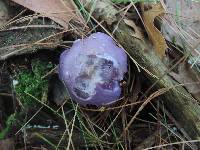
M200 149L199 8L0 0L0 150ZM101 107L73 101L58 75L61 53L95 32L128 56L121 98Z

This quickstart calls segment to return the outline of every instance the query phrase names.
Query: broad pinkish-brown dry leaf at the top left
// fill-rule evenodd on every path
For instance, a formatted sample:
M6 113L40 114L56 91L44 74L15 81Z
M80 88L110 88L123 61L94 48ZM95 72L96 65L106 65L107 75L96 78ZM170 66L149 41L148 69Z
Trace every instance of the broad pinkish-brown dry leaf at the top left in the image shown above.
M71 0L12 0L30 10L51 18L65 29L70 20L75 19L84 23L81 15L77 15L77 8Z

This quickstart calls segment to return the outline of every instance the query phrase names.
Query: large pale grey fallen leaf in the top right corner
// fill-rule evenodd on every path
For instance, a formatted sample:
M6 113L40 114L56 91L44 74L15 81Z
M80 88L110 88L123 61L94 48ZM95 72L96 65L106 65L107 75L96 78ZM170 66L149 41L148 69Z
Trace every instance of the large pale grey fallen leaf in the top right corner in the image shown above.
M167 0L166 14L162 17L161 31L167 41L191 53L188 62L200 65L200 1ZM194 49L195 47L195 49Z

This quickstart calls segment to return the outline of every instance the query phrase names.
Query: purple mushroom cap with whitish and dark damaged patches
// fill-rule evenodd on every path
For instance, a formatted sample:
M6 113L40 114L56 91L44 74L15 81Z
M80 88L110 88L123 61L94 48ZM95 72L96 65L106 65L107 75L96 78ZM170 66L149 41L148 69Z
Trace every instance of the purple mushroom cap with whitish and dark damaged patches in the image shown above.
M117 101L126 72L126 53L110 36L100 32L74 41L60 56L59 78L71 98L83 106Z

